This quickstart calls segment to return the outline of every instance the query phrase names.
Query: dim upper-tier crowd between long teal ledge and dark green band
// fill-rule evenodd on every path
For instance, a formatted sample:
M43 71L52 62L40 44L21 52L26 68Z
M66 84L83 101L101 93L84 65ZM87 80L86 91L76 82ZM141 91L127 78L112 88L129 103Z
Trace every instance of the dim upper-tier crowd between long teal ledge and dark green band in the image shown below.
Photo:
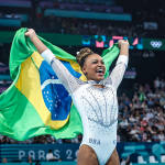
M46 18L47 19L47 18ZM50 18L50 31L65 34L88 34L88 35L107 35L107 36L128 36L136 37L136 28L134 25L112 25L110 23L98 24L91 21L81 21L77 18L64 19L52 14ZM43 24L47 25L47 22Z

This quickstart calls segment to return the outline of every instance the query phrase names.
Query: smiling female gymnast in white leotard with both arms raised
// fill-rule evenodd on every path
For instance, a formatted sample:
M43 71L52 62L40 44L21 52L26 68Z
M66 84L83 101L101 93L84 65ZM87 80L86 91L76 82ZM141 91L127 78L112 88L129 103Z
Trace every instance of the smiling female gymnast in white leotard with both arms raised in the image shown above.
M87 82L75 78L37 37L33 29L29 36L52 66L57 77L72 96L82 127L84 138L77 156L77 165L120 165L117 153L118 100L117 89L128 66L129 42L120 40L120 55L110 76L105 78L105 63L100 55L81 48L76 61L87 77Z

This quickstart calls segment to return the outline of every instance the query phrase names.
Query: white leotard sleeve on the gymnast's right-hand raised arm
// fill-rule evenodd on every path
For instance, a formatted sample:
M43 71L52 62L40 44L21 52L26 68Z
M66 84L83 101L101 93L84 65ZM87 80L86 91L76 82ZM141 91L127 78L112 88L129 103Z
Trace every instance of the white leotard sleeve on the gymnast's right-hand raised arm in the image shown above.
M110 75L111 85L114 87L114 89L118 89L123 78L124 72L128 67L128 62L129 58L125 55L120 55L117 61L117 65Z

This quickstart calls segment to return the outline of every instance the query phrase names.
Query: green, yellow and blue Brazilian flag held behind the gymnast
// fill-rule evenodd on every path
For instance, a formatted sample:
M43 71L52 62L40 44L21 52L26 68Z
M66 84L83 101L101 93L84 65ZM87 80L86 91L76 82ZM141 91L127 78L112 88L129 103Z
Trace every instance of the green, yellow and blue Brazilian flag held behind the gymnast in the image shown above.
M0 96L0 134L18 141L42 134L56 139L75 138L84 131L79 113L52 67L24 36L26 31L20 29L12 42L10 75L13 84ZM73 76L86 81L75 56L42 37L40 40ZM118 54L118 44L102 53L106 77Z

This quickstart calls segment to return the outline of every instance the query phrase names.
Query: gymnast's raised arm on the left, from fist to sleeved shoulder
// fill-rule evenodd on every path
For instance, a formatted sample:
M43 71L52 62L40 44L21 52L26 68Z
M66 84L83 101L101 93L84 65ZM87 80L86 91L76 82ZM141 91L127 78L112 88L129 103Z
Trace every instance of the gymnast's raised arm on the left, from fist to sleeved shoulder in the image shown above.
M58 79L62 81L66 90L72 95L75 90L80 87L80 80L74 77L68 69L58 61L55 55L48 50L42 41L37 37L34 30L29 30L25 33L36 47L41 56L52 66L53 70L57 75Z

